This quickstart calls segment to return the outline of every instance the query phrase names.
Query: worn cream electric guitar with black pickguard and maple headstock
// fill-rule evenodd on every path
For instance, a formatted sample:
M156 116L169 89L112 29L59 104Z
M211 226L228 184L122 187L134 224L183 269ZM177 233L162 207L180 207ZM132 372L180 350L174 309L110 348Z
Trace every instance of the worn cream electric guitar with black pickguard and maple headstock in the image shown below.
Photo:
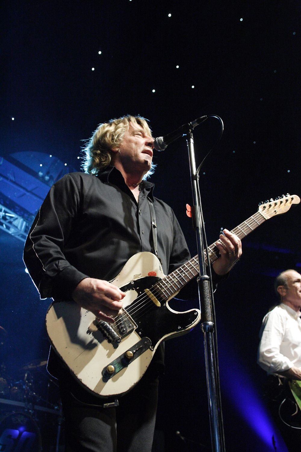
M266 202L232 232L242 239L265 220L299 202L298 196L288 194ZM218 259L216 243L209 246L206 263ZM51 344L88 391L99 396L124 394L144 375L162 341L190 331L199 322L198 309L176 312L168 306L168 301L198 273L197 256L165 276L154 254L135 254L111 281L126 292L115 322L98 321L74 301L54 302L46 315Z

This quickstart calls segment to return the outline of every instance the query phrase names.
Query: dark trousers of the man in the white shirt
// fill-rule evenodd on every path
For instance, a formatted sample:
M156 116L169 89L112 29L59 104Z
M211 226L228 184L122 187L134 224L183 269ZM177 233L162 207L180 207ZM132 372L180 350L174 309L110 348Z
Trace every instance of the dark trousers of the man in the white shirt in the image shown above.
M301 412L286 378L268 377L264 399L289 452L301 452ZM278 450L277 444L275 450Z

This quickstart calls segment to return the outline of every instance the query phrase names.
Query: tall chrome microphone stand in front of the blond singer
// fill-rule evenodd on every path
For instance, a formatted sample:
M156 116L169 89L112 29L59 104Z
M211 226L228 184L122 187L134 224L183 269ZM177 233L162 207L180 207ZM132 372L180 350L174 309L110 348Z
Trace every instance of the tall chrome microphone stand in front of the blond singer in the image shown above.
M189 153L192 196L194 202L192 214L199 256L199 276L197 279L199 287L199 305L201 310L201 330L203 331L204 334L210 431L211 431L212 451L224 452L226 449L222 422L222 403L218 375L218 357L217 354L215 353L214 346L214 323L212 308L213 292L210 290L210 278L206 274L204 240L203 240L205 230L201 215L202 207L198 191L198 174L195 166L194 140L192 130L193 126L190 123L190 128L189 131L187 131L186 133L186 138ZM209 256L207 262L208 265L210 265Z

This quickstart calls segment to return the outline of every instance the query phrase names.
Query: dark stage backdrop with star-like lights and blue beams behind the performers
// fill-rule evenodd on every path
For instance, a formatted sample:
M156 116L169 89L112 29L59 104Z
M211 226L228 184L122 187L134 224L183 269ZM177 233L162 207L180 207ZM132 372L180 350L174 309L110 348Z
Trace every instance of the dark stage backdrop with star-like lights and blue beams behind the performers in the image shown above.
M39 179L37 159L44 164L49 155L79 170L83 140L110 118L141 114L154 136L161 136L216 114L225 130L200 176L209 243L221 228L232 229L254 214L260 201L287 192L301 195L300 2L13 0L3 5L4 159L16 164L16 153L24 153L22 168ZM217 140L219 127L209 119L195 129L198 162ZM186 202L191 204L185 138L156 153L154 162L155 194L174 209L195 254L185 214ZM11 207L13 187L8 198ZM264 372L256 365L256 350L261 320L275 302L273 278L286 268L301 270L300 223L301 207L293 206L246 237L241 261L215 295L227 451L274 450L273 428L260 400ZM23 379L28 363L47 358L44 317L50 300L39 300L25 273L22 240L0 230L0 249L0 326L7 331L2 373L15 382ZM185 310L197 301L175 306ZM198 327L167 342L166 364L154 447L208 451ZM32 374L36 392L44 396L45 366L32 368ZM56 395L51 400L56 404ZM285 450L278 443L277 451Z

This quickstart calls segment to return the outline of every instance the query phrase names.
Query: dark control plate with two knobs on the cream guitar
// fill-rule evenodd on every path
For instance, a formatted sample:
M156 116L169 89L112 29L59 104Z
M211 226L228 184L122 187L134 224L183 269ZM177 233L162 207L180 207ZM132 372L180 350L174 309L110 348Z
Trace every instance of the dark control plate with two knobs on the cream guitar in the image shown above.
M114 377L116 373L127 367L134 359L138 358L148 348L151 348L151 340L148 338L142 338L133 347L129 348L124 354L114 359L108 366L102 369L102 380L108 381Z

